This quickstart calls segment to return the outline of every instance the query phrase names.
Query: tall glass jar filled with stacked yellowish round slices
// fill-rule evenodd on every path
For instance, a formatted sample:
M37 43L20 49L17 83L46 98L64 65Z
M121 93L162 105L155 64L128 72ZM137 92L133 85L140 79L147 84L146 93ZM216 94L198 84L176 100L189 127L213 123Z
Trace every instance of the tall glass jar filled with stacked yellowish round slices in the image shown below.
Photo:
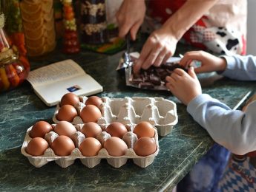
M53 0L22 0L20 10L27 55L37 57L53 51L56 47Z

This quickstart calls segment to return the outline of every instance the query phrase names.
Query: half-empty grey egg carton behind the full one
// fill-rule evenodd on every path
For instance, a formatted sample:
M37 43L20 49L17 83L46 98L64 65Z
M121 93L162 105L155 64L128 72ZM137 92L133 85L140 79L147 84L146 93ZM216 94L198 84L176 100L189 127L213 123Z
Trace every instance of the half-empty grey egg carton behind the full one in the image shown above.
M79 112L85 106L87 97L82 97L82 100L76 106ZM102 97L102 100L103 103L99 106L102 117L97 122L99 125L114 121L123 124L137 124L141 121L148 121L157 128L158 134L163 137L171 133L172 128L178 122L176 103L163 97ZM53 116L54 123L59 122L56 118L59 108L58 104ZM76 116L71 123L79 124L83 122L81 117Z

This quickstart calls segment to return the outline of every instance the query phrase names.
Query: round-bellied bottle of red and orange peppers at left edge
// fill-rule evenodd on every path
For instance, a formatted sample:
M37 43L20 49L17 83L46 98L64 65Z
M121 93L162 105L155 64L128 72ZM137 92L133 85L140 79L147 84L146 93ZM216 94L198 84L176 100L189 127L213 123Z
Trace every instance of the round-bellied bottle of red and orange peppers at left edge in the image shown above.
M18 60L4 34L4 14L0 14L0 92L19 86L30 70L27 61Z

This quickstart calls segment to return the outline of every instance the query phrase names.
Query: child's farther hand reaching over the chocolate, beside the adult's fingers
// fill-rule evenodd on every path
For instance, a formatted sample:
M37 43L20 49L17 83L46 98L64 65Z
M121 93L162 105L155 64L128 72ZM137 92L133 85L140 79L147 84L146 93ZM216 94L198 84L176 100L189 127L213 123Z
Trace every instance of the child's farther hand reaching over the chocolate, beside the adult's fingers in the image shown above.
M224 71L226 69L226 60L224 58L218 58L204 51L186 52L180 60L180 65L188 67L193 60L201 61L201 66L194 69L196 73Z

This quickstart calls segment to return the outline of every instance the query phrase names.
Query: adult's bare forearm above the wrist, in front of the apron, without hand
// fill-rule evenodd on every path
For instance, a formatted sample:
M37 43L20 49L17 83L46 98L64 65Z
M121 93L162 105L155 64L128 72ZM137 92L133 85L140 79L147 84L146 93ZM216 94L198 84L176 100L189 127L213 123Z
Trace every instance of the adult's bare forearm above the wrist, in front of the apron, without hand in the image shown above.
M200 19L218 0L188 0L163 24L177 40Z

